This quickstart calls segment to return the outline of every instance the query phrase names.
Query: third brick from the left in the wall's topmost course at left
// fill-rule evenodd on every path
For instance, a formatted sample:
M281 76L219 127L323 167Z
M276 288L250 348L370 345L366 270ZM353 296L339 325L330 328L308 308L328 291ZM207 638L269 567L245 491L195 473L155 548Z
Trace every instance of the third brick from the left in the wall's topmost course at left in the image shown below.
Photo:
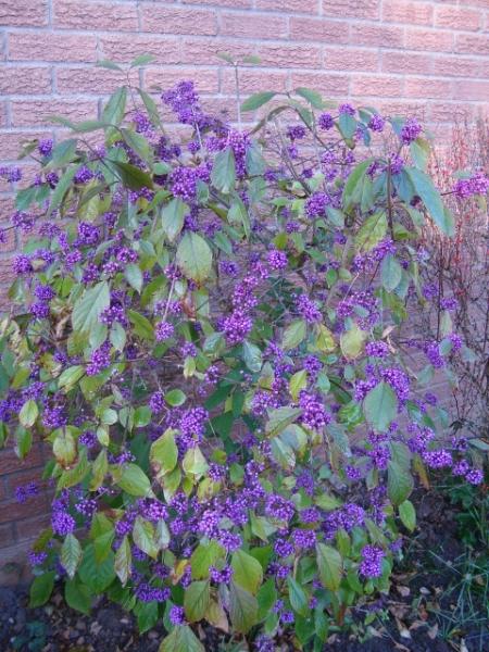
M217 34L215 10L175 9L145 3L140 9L142 32L156 34L196 34L201 36Z

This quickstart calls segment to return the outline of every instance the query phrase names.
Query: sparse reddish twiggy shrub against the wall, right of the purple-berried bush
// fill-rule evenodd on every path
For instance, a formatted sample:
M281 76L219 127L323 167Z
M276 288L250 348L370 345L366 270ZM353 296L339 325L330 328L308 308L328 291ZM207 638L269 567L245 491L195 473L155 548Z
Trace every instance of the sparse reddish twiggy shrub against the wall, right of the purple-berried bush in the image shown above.
M419 314L421 327L434 337L443 311L463 337L466 354L451 363L456 374L453 411L456 427L488 432L489 424L489 249L487 247L489 121L455 124L446 152L435 152L430 170L439 185L457 176L446 201L455 217L455 236L447 238L427 224L423 239L428 252L422 269L429 301ZM472 172L465 172L465 171ZM447 318L447 313L444 313Z

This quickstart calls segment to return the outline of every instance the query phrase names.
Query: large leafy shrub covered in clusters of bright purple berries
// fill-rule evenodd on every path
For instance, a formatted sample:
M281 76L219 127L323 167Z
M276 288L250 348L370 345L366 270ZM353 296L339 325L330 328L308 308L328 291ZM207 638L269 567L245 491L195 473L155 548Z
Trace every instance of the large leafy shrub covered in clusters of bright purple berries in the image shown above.
M121 87L100 121L63 120L66 140L24 152L39 174L12 216L30 237L1 322L0 417L21 456L52 447L32 602L61 576L75 609L105 593L141 630L162 617L162 651L203 650L200 620L262 651L283 630L322 649L388 590L414 477L481 480L471 442L440 444L447 414L406 364L463 348L448 327L404 333L419 229L453 233L422 126L326 112L305 88L276 99L247 133L183 82L162 96L172 139Z

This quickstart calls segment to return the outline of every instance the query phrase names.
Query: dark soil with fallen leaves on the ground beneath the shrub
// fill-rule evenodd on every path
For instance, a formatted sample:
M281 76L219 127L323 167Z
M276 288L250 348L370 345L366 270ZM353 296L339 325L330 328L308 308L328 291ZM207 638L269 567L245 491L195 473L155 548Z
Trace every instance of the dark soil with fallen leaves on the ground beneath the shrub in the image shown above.
M457 609L457 560L466 548L456 531L454 512L439 494L424 494L417 503L419 527L403 567L393 577L387 597L377 602L376 617L363 625L366 610L354 614L358 625L349 634L334 634L325 651L330 652L485 652L489 631L484 622L465 618L452 625ZM455 575L454 575L455 574ZM484 591L471 593L474 613L484 614ZM480 598L479 598L480 595ZM90 616L66 606L61 589L39 609L28 609L27 588L0 588L1 652L155 652L164 638L162 626L139 636L130 615L101 600ZM372 605L371 605L372 609ZM444 614L440 616L440 612ZM438 616L437 616L438 614ZM484 617L484 616L482 616ZM218 630L199 628L205 650L224 652ZM21 640L24 639L22 644ZM28 647L30 644L30 647ZM243 643L235 647L244 651ZM278 651L297 648L284 640Z

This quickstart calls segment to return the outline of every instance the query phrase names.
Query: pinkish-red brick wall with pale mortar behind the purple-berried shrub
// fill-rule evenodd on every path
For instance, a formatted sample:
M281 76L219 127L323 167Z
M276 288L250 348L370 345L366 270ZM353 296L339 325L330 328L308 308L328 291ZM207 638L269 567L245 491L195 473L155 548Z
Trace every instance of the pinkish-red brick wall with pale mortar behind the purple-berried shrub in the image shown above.
M243 93L309 86L421 113L442 136L454 116L487 110L489 0L0 0L0 164L15 160L22 139L53 134L47 115L97 115L121 83L93 67L101 58L151 53L139 72L147 88L192 78L206 101L233 106L234 76L217 51L260 57L241 73ZM11 205L0 185L0 224ZM3 298L17 247L1 246ZM45 496L13 502L41 463L40 450L25 464L0 452L0 562L46 521Z

